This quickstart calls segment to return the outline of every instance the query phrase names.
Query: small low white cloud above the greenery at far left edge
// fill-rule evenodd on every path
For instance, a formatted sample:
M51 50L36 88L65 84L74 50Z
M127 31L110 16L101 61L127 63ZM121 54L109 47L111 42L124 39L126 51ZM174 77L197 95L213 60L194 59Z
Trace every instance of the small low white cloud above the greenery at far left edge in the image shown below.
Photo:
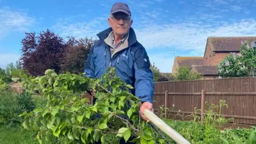
M19 60L19 54L11 54L11 53L1 53L0 54L0 67L5 68L11 62L15 63Z

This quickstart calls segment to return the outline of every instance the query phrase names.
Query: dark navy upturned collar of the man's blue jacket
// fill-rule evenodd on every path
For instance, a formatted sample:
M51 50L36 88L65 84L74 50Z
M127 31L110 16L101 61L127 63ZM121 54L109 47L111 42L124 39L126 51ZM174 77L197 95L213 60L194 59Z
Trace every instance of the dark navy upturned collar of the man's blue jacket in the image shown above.
M104 42L104 39L106 39L109 35L109 33L111 33L111 31L113 31L112 28L107 28L103 31L101 31L100 33L97 34L97 36L100 38L101 41ZM129 38L128 38L128 43L129 43L129 47L137 42L137 38L135 35L135 32L133 30L133 28L130 28L130 32L129 32Z

